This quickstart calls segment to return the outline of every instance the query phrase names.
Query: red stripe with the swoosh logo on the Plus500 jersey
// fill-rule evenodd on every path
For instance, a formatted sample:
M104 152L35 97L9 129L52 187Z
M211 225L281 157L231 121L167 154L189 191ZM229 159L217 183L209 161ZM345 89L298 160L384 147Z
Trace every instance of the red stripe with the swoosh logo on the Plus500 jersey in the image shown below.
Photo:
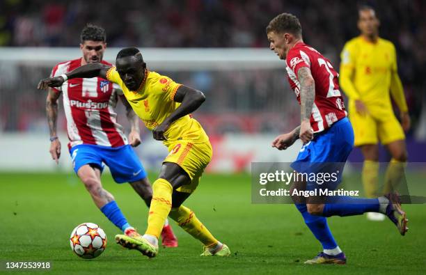
M71 62L69 71L79 68L81 65L81 59L76 59ZM83 79L74 78L68 80L68 97L81 97L83 94ZM81 141L86 144L96 144L96 140L93 137L90 127L87 127L86 112L83 109L71 108L72 118L74 123L77 125L77 131Z

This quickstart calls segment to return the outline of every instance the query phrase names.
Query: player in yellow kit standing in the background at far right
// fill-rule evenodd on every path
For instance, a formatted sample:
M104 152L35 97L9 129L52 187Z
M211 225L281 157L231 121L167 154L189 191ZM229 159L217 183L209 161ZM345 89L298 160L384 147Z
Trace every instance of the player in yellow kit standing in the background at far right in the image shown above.
M409 129L410 118L397 73L395 46L379 38L379 19L371 7L358 10L358 29L361 36L349 40L342 50L339 79L349 97L355 146L361 148L365 159L363 186L366 195L373 198L386 194L402 177L407 162L404 130ZM395 118L390 95L400 109L402 125ZM378 189L379 141L392 156L384 190ZM383 220L384 215L369 213L368 219Z

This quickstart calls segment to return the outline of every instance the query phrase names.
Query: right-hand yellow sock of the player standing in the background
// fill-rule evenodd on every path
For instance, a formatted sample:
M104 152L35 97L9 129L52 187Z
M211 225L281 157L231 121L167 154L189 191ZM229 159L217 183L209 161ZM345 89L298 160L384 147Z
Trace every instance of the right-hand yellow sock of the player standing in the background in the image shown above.
M385 174L384 194L388 194L392 191L397 191L397 189L401 189L400 192L402 192L403 195L408 195L407 187L401 185L402 180L404 180L403 177L405 164L405 162L399 162L396 159L390 159Z

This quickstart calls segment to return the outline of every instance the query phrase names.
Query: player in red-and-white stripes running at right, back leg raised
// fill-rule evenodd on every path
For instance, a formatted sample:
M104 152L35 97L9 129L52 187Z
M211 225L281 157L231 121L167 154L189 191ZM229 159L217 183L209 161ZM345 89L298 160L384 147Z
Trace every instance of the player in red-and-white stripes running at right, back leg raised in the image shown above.
M294 182L292 193L338 189L342 171L354 146L354 130L347 119L338 73L330 61L316 49L303 42L299 19L290 13L281 13L267 26L269 49L285 61L288 81L301 107L301 123L291 132L274 139L272 147L286 150L301 139L303 146L292 168L306 175L337 175L324 181L305 178ZM317 191L319 191L317 193ZM399 196L390 193L379 198L354 198L351 196L303 196L292 197L301 212L306 226L322 244L323 251L305 263L345 264L347 259L334 239L326 218L348 217L365 212L379 212L397 226L401 235L407 232L407 218L400 205Z

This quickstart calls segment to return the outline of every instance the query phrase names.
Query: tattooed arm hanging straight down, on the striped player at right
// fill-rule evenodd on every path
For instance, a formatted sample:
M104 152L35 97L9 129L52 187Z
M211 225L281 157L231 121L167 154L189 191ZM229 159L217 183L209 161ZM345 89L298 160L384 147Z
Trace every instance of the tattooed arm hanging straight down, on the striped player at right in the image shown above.
M308 143L313 139L313 131L310 127L310 115L312 113L315 100L315 81L310 74L310 69L303 67L297 72L297 78L300 82L300 115L301 123L299 128L299 137L303 143Z

